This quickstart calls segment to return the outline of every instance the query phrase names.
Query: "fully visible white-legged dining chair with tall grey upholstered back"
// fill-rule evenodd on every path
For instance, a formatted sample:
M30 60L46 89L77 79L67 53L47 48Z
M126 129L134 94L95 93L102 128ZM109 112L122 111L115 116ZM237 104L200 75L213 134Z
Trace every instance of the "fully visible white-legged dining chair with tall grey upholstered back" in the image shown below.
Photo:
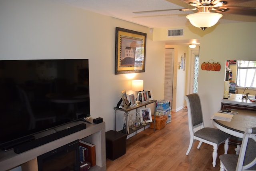
M219 129L204 127L201 101L197 93L186 95L184 98L188 107L188 127L190 133L190 143L186 155L190 152L194 139L199 141L197 149L200 148L202 142L212 145L212 166L215 167L218 146L225 141L224 154L227 154L230 135Z

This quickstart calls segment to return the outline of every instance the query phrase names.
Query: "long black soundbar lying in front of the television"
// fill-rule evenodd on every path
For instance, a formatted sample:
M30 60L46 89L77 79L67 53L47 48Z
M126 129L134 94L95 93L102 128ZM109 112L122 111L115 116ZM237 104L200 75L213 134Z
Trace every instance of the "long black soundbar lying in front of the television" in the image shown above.
M35 139L33 141L24 143L24 144L17 145L13 148L13 150L16 154L20 154L20 153L23 153L24 151L28 151L30 149L39 147L39 146L44 145L46 143L50 143L51 141L54 141L56 139L65 137L65 136L70 135L72 133L75 133L77 131L81 131L82 129L86 129L86 124L85 123L81 123L79 125L70 127L68 129L64 129L62 131L58 131L56 133L47 135L45 137L38 138L38 139Z

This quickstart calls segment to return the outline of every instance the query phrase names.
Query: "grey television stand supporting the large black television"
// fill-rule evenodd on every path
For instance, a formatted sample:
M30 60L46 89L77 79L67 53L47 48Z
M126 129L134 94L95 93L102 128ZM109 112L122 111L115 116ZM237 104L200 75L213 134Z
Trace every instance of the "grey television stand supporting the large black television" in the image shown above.
M44 132L41 132L35 135L36 138L40 138L42 136L49 135L51 133L55 133L56 131L60 131L66 129L68 127L72 127L78 125L80 123L84 123L83 121L75 121L72 123L68 123L66 125L62 125L60 127L56 127L55 129L50 129ZM86 123L86 129L78 131L76 133L72 133L68 136L62 137L50 143L46 143L34 149L25 151L20 154L14 153L13 150L9 151L0 151L0 170L9 170L20 165L26 165L28 162L33 161L37 158L37 156L52 151L58 147L66 145L76 139L83 139L89 143L95 145L96 149L96 165L90 168L90 171L106 171L106 138L105 138L105 122L95 124L95 123ZM36 166L32 166L32 168L37 168L37 162L34 163ZM32 169L34 170L34 169Z

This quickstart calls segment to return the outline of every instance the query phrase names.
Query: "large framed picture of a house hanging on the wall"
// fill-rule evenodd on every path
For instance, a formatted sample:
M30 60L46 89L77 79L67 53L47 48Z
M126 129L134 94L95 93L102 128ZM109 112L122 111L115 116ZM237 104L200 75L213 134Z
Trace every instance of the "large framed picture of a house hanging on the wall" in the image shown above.
M146 33L116 27L115 74L145 72Z

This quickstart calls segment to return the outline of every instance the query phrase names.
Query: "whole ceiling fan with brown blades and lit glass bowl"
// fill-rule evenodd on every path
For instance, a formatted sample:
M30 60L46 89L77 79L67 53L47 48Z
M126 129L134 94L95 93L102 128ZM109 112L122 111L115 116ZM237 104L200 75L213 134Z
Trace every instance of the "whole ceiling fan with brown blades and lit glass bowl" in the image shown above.
M256 16L256 3L254 6L246 7L245 4L255 0L180 0L192 8L184 9L166 9L166 10L151 10L151 11L138 11L133 13L145 13L145 12L161 12L170 10L180 11L194 11L198 12L189 14L186 16L193 26L205 30L208 27L214 26L218 20L222 17L222 14L239 14L246 16ZM240 5L240 6L238 6ZM210 12L210 11L214 12ZM220 14L222 13L222 14Z

